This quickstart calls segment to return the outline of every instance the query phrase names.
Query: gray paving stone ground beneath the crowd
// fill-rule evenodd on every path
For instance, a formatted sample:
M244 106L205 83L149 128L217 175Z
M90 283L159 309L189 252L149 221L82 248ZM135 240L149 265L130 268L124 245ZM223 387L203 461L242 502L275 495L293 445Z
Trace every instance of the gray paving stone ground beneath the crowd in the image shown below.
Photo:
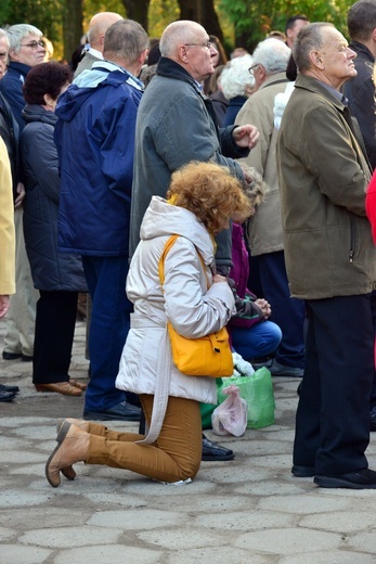
M0 350L3 335L0 321ZM70 374L87 371L77 322ZM274 379L274 425L239 438L207 432L236 458L204 462L191 485L80 463L76 480L53 489L44 463L56 418L79 418L83 399L38 394L30 374L30 363L0 361L0 383L21 388L0 403L0 564L376 563L376 490L321 489L290 474L296 380ZM376 433L367 457L376 469Z

